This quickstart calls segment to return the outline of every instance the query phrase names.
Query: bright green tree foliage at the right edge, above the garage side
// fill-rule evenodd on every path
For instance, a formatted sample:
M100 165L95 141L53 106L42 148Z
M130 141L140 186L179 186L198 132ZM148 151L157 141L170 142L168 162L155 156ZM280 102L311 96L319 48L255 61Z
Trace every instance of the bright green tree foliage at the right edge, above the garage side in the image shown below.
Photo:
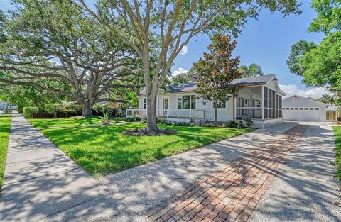
M301 75L309 86L325 86L341 98L341 1L314 0L318 16L310 23L310 31L323 31L319 43L300 40L291 46L287 65L291 72ZM340 102L340 101L339 101Z

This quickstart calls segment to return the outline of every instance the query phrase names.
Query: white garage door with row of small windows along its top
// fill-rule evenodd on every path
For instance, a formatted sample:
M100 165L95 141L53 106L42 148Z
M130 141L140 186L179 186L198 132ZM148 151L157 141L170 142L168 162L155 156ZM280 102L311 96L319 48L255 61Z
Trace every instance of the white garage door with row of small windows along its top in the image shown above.
M320 109L309 108L284 108L283 119L288 121L320 121Z

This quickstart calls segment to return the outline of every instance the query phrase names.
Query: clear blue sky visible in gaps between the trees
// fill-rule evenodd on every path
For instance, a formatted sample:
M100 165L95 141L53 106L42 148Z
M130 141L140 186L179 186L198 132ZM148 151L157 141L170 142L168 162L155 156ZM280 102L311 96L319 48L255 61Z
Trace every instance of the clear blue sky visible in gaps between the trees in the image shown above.
M281 13L261 11L258 20L249 20L242 33L237 38L237 48L234 55L239 55L241 65L255 62L261 65L266 74L276 74L281 89L288 94L317 97L323 94L323 88L305 87L298 77L288 70L286 59L290 47L298 40L305 39L319 43L323 39L322 33L309 33L308 26L315 17L315 11L310 8L310 1L303 0L299 16L283 17ZM0 0L0 9L6 11L11 8L10 0ZM204 35L193 38L187 45L187 52L175 59L172 67L173 74L185 72L192 67L202 53L207 51L210 39Z

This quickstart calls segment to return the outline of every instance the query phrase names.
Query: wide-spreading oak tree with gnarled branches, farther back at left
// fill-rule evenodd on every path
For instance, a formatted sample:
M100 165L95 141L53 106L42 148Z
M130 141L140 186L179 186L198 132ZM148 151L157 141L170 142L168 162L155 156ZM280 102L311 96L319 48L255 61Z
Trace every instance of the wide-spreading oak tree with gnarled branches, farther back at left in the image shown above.
M108 91L134 87L126 79L134 67L131 50L71 1L14 3L16 10L1 17L0 82L68 96L82 104L85 116L94 103L109 100Z

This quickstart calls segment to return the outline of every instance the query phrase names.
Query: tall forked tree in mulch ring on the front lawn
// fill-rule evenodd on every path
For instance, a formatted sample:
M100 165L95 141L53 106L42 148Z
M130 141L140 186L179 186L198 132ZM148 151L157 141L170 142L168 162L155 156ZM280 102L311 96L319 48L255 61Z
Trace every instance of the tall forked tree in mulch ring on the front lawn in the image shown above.
M217 31L237 35L250 17L262 8L284 15L300 13L296 0L101 0L97 10L85 0L78 6L109 28L141 57L144 65L148 121L147 130L157 131L156 97L175 57L198 34ZM151 54L156 55L151 62Z

